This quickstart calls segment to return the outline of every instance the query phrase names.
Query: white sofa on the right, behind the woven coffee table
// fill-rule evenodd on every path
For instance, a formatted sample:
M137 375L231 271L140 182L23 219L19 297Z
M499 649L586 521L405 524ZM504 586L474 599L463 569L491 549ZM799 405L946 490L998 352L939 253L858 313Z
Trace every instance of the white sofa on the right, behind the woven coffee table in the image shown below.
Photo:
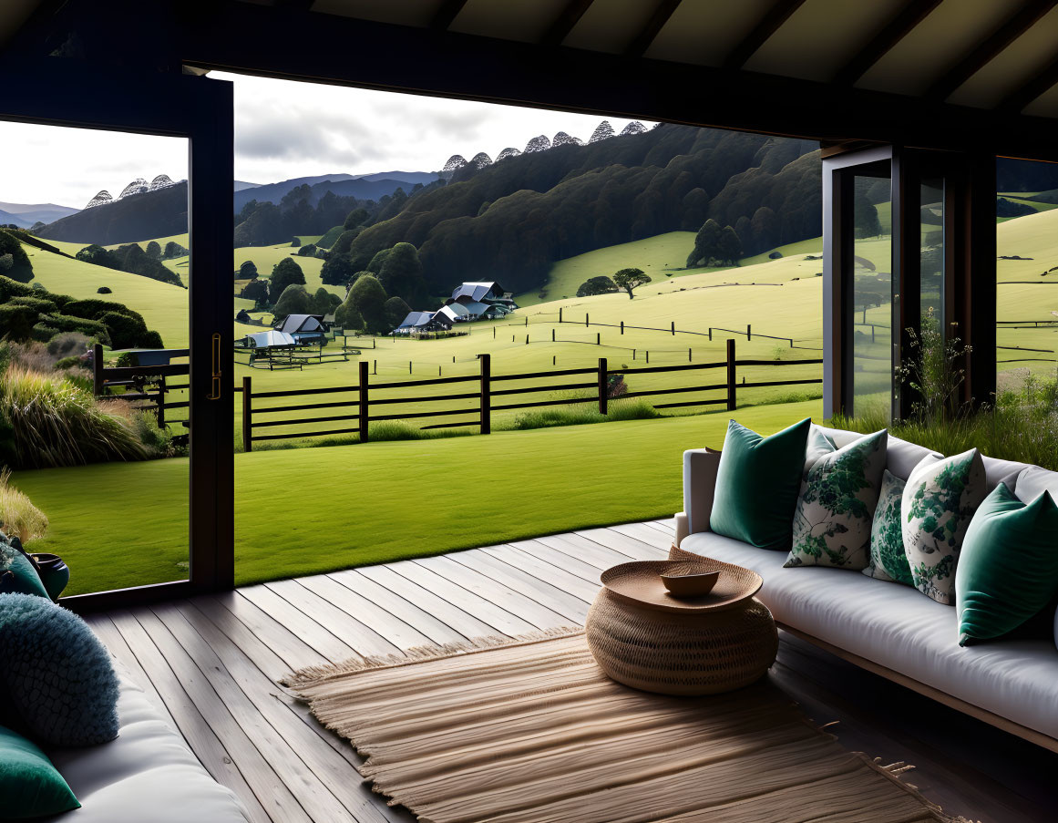
M822 431L838 447L860 437L841 429ZM927 454L927 449L890 437L888 469L907 479ZM1026 502L1044 489L1058 498L1058 473L984 459L989 490L1002 480ZM685 511L676 515L680 549L756 571L764 579L758 597L780 628L1058 751L1058 648L1053 638L961 647L955 609L910 586L846 569L783 568L785 552L712 533L709 514L718 463L718 452L683 453Z

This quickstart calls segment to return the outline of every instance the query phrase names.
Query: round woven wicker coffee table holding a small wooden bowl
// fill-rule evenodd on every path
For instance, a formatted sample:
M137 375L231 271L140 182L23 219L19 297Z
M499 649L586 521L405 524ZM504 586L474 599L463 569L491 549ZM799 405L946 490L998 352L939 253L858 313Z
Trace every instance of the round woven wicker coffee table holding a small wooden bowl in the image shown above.
M676 598L661 574L718 571L707 593ZM599 666L619 683L674 695L741 689L776 661L771 612L753 597L756 572L712 557L622 563L602 573L585 636Z

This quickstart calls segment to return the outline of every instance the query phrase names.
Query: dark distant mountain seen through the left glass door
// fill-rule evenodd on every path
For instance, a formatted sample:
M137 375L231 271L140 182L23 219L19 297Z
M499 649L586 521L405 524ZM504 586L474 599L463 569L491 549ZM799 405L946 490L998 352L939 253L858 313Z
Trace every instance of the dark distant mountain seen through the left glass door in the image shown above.
M131 194L86 208L40 230L39 236L73 243L134 243L187 231L187 183Z

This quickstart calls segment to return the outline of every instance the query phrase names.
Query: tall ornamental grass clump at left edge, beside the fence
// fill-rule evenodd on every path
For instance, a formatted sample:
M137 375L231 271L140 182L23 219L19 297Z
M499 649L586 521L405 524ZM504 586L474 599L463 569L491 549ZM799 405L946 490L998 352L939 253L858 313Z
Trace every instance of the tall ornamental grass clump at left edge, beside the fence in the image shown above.
M90 392L59 374L10 365L0 380L0 420L7 462L15 469L151 456L126 418L108 414Z

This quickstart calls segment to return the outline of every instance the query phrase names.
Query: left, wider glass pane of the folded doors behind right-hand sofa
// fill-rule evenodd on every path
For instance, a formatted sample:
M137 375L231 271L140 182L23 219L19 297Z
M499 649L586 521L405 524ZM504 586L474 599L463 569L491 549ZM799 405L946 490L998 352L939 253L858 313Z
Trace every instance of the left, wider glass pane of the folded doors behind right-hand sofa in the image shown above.
M858 175L853 193L852 413L888 420L893 390L891 180Z

